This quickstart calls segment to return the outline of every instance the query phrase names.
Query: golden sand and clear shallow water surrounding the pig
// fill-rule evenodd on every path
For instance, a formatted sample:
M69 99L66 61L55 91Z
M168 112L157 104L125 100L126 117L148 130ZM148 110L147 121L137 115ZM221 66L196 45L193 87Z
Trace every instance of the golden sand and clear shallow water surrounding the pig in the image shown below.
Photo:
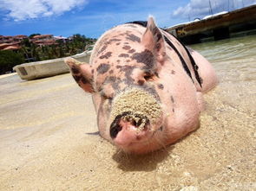
M0 78L0 190L256 190L255 42L192 46L220 84L197 131L146 156L97 135L90 96L69 74Z

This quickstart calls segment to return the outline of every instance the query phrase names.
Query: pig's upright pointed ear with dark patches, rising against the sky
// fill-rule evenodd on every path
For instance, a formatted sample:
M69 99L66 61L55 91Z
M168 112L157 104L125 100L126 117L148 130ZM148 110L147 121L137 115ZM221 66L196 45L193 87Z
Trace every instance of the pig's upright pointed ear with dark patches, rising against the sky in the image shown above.
M161 34L161 30L155 25L154 18L152 16L148 17L148 25L144 35L142 36L142 44L145 48L152 51L158 61L163 61L165 59L166 50L164 38Z

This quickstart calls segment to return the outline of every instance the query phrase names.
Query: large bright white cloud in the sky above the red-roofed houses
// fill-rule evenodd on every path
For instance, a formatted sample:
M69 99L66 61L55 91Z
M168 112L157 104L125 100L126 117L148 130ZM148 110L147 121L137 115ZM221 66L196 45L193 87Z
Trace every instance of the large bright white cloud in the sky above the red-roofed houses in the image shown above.
M85 3L88 0L0 0L0 10L5 10L9 19L23 21L40 16L61 15Z

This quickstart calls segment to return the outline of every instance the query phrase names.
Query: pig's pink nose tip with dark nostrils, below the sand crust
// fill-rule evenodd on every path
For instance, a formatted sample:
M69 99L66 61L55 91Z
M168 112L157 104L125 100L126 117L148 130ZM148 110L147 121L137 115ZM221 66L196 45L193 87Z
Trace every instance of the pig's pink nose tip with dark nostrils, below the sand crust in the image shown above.
M158 127L159 126L159 127ZM124 112L115 117L110 125L110 137L121 150L133 152L133 150L148 147L154 132L161 125L151 124L146 116Z

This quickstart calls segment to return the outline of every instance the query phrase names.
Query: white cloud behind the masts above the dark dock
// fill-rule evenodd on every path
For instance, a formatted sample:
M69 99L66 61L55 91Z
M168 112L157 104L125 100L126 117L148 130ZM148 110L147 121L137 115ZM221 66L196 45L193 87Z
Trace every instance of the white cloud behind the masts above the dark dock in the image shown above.
M186 6L174 10L173 16L189 17L194 20L196 17L210 15L211 12L214 14L221 11L236 10L252 4L256 4L256 0L190 0Z

